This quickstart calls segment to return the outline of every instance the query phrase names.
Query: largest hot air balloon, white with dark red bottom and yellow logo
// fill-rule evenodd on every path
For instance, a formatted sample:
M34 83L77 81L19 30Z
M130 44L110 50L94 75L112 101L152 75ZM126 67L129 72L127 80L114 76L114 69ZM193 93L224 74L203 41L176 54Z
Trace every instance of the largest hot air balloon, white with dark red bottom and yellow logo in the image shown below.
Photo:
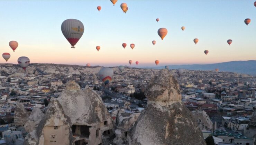
M84 33L84 25L79 20L67 19L62 22L61 31L67 41L71 44L71 48L75 48L75 44Z

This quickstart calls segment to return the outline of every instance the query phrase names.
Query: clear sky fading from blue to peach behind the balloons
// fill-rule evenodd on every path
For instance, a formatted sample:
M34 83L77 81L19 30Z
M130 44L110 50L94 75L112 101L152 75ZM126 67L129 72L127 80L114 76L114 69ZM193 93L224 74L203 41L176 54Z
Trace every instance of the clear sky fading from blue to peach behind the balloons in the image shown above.
M128 5L126 14L122 2ZM251 19L248 26L246 18ZM85 28L75 49L61 31L66 19L78 19ZM118 0L115 6L110 0L0 1L0 20L1 54L10 53L8 63L13 64L20 56L30 63L92 66L129 65L133 60L135 67L155 66L155 60L159 66L256 60L254 1ZM157 34L162 27L168 30L164 40ZM196 45L194 38L199 39ZM228 39L233 40L230 46ZM11 40L19 43L15 52L9 47ZM6 62L1 58L0 63Z

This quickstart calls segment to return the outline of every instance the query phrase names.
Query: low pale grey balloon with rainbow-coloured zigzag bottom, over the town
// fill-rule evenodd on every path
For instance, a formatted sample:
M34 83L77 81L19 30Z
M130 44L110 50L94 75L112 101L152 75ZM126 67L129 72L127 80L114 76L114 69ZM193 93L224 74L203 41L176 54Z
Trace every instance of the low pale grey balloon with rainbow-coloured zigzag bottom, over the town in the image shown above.
M108 67L103 67L99 71L99 77L103 81L105 85L110 83L114 75L114 72L111 68Z

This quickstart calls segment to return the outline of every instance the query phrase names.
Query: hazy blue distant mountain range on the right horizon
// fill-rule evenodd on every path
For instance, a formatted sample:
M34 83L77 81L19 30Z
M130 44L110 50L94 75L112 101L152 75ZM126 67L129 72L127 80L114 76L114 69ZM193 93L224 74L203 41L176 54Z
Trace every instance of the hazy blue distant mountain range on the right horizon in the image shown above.
M229 61L221 62L217 64L207 64L207 65L168 65L169 69L189 69L189 70L215 70L216 68L219 71L229 71L229 72L238 72L243 74L256 75L256 60L248 61ZM150 67L153 69L162 69L165 66L159 67ZM149 67L145 67L149 68Z

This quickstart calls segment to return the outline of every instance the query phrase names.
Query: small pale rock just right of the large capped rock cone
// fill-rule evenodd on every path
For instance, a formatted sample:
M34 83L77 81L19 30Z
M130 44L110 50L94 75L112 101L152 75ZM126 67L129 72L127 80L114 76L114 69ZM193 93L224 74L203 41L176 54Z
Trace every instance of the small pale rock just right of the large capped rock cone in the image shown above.
M201 130L210 130L213 129L213 123L211 122L208 114L204 110L194 110L192 111L194 119L197 121L198 126Z

